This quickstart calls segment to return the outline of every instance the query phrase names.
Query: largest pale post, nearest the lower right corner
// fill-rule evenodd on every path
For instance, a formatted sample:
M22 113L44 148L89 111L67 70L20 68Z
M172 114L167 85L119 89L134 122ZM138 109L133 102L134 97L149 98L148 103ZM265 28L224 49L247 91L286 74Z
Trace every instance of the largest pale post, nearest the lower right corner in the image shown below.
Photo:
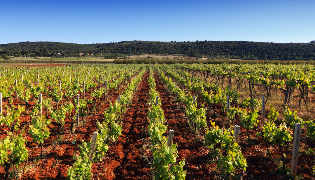
M291 175L292 176L296 176L296 172L297 172L297 159L299 156L300 135L301 135L301 124L295 123L292 160L291 160Z

